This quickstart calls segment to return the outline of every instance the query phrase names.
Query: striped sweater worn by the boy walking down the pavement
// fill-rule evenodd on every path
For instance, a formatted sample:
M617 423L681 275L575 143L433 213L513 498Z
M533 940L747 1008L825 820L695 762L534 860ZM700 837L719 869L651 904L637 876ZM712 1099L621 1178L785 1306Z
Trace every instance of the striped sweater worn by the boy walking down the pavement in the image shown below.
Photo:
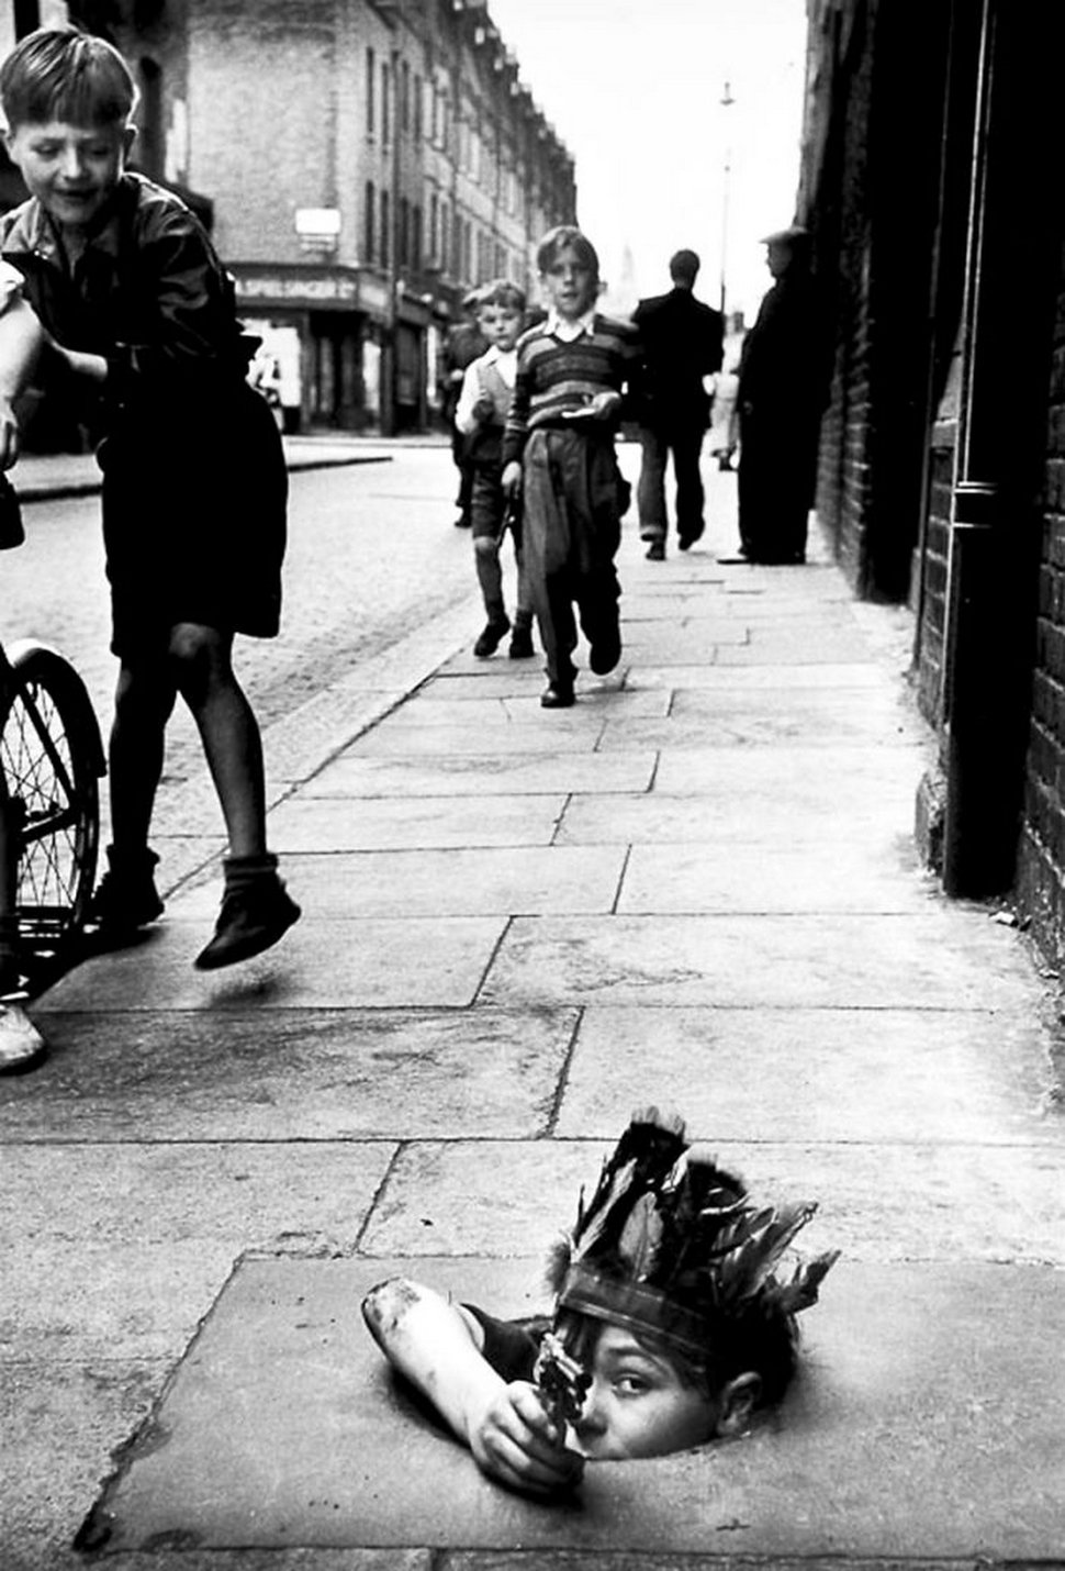
M503 437L503 462L520 459L529 432L551 426L564 410L581 408L597 393L625 393L639 364L639 338L628 322L595 316L591 333L562 342L545 325L518 339L518 369ZM572 430L583 429L580 424ZM605 429L598 427L602 438Z

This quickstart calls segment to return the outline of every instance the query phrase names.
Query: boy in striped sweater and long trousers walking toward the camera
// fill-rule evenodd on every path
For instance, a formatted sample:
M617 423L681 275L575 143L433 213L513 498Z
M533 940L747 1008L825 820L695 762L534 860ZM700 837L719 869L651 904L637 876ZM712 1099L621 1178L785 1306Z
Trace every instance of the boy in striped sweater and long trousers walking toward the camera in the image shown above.
M595 311L598 258L580 229L537 250L547 319L518 341L503 435L503 489L523 493L523 548L548 685L543 709L573 702L576 622L597 676L620 660L614 555L622 493L614 435L639 363L636 330Z

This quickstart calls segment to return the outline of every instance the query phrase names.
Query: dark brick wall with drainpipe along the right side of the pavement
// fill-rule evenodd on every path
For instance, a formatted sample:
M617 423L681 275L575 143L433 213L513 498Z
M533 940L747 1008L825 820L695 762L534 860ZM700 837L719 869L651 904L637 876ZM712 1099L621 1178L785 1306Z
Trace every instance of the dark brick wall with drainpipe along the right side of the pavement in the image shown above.
M836 294L817 507L914 613L939 742L919 831L953 894L1065 955L1065 19L807 0L796 218Z

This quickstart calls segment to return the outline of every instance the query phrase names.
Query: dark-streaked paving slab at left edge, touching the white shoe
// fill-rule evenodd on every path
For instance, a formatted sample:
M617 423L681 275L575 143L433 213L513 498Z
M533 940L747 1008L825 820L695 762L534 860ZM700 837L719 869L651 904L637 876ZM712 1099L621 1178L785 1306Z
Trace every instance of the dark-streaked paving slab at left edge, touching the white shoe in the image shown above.
M49 1057L0 1081L0 1134L126 1141L532 1139L578 1012L49 1015Z

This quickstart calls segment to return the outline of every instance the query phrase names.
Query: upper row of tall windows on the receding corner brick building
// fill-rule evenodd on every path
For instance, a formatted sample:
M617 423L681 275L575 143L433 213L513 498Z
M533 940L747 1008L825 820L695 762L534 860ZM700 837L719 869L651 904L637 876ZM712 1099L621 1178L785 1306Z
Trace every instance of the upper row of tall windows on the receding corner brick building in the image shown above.
M396 80L393 80L393 77ZM484 184L504 203L506 211L518 209L518 179L506 160L496 159L481 132L452 110L451 94L413 74L407 61L399 69L382 60L374 49L366 49L366 134L380 134L382 148L391 146L391 138L412 135L415 141L430 141L435 148L456 159L459 170ZM399 123L399 124L396 124Z

